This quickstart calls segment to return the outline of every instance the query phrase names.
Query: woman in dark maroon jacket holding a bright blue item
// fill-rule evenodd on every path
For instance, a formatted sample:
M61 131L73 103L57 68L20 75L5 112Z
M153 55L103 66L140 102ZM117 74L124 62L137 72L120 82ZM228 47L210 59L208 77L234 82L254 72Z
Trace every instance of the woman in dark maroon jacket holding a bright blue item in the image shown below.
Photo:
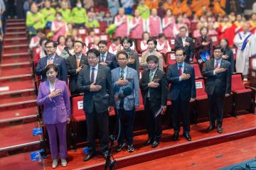
M196 38L195 42L195 51L196 51L196 60L200 64L201 70L203 69L203 62L210 60L210 57L213 56L213 41L208 35L208 28L202 27L200 29L201 36ZM206 57L206 55L208 57Z

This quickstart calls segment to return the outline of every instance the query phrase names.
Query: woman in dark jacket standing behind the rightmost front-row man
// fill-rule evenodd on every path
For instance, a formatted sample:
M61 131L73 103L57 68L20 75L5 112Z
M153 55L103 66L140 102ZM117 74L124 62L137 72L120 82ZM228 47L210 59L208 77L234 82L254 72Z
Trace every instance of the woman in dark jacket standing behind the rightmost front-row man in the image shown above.
M220 39L220 46L223 48L223 56L222 59L227 60L231 64L231 74L234 72L234 55L233 51L230 49L230 45L228 43L228 39L221 38Z

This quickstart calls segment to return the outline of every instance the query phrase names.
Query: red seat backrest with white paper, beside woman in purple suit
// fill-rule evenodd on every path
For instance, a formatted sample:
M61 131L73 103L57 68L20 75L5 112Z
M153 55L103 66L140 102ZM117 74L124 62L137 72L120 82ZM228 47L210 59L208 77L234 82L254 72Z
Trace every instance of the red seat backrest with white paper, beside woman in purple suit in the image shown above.
M73 117L85 115L83 111L83 96L75 96L72 98L72 115Z

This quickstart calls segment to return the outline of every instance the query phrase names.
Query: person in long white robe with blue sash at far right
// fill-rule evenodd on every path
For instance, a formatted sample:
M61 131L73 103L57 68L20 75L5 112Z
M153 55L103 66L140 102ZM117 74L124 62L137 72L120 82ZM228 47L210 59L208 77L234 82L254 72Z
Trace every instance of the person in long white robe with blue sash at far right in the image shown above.
M249 23L242 26L242 32L235 35L234 44L238 47L235 62L236 72L242 73L243 81L247 81L249 74L249 57L256 54L256 38L249 31Z

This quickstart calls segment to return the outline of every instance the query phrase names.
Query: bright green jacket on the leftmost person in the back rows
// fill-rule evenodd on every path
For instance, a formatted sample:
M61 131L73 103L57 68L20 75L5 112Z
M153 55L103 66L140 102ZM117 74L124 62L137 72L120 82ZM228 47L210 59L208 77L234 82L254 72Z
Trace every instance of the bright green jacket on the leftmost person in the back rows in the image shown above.
M39 21L35 22L36 18L38 18ZM40 12L32 13L31 11L28 11L28 13L26 15L26 26L27 27L33 26L33 28L35 28L36 30L38 28L43 29L45 26L45 21L44 21L42 13L40 13Z

